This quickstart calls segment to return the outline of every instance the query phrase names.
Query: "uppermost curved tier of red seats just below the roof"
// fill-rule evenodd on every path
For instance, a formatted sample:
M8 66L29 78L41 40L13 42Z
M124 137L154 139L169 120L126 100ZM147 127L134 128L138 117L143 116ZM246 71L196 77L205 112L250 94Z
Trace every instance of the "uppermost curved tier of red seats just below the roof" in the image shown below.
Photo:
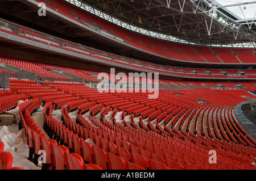
M38 1L38 0L36 0ZM38 1L40 2L40 1ZM177 43L168 43L163 40L151 40L150 37L139 35L131 31L124 30L116 26L115 24L108 23L103 19L96 18L96 16L86 12L79 7L72 6L67 2L62 1L49 1L51 5L46 4L49 8L57 11L68 18L81 23L83 26L84 22L90 24L89 27L106 31L112 36L117 36L119 39L133 45L134 47L146 50L147 52L158 54L160 56L166 56L174 58L176 60L183 61L195 61L195 62L213 62L213 63L228 63L228 64L241 64L251 63L252 60L256 60L253 56L253 49L238 49L238 48L208 48L208 47L197 47L195 45L184 45ZM77 19L73 14L80 17ZM97 25L97 26L96 26ZM124 36L125 35L125 36ZM155 47L155 48L152 48ZM199 52L199 54L198 54ZM207 52L207 53L205 53ZM236 52L237 56L234 56ZM217 54L217 56L216 56ZM250 55L250 56L248 56ZM252 59L253 58L253 59Z

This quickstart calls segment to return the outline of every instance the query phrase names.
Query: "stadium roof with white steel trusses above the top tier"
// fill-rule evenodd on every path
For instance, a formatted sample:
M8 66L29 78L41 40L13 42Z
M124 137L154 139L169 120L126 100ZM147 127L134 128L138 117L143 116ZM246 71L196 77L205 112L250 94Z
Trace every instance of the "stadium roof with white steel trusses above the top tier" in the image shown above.
M256 1L65 0L110 22L179 43L255 47Z

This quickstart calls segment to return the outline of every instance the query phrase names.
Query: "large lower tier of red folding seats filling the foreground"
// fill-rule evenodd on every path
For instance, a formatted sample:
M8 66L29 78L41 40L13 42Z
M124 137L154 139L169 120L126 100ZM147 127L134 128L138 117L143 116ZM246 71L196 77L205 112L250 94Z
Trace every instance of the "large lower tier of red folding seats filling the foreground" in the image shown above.
M38 165L38 151L46 150L42 169L256 169L256 142L233 112L245 100L240 95L253 96L245 90L159 90L158 98L147 99L149 92L98 92L81 83L24 83L28 87L46 92L22 92L30 99L19 106L28 159ZM11 86L5 94L19 91ZM45 133L31 116L42 106ZM150 111L135 114L141 106ZM217 152L216 163L209 163L210 150Z

